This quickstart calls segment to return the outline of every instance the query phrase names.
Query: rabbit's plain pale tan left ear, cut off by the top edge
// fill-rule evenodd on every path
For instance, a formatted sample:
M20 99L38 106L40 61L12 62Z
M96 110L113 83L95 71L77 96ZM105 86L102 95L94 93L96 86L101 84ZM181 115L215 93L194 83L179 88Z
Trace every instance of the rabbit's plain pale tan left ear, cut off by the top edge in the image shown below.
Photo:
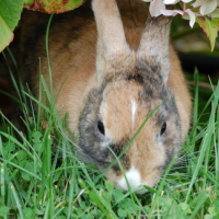
M129 46L116 1L93 0L92 7L97 27L96 70L99 81L102 81L107 60L128 51Z

